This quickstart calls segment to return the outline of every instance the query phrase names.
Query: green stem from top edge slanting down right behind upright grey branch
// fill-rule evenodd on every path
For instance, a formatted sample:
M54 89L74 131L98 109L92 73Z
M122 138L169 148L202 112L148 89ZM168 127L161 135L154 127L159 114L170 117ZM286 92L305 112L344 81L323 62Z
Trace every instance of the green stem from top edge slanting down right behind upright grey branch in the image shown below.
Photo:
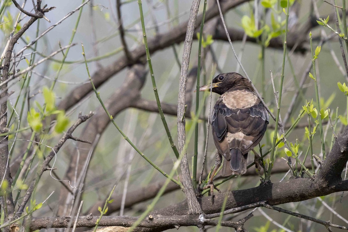
M144 39L144 44L145 44L146 58L147 58L148 65L149 65L149 70L150 70L150 75L151 75L151 80L152 80L153 92L155 93L155 98L156 98L156 102L157 102L159 115L160 115L161 120L163 122L164 129L166 130L166 133L167 133L167 136L168 136L168 139L169 139L169 143L171 144L171 147L172 147L172 149L174 151L174 154L175 154L176 158L178 159L179 158L179 152L177 151L176 146L174 144L173 137L171 135L171 132L169 131L169 127L168 127L166 118L164 117L164 113L163 113L163 110L162 110L162 107L161 107L161 103L159 101L159 96L158 96L158 91L157 91L157 86L156 86L156 81L155 81L155 74L153 74L152 63L151 63L151 58L150 58L150 51L149 51L149 46L148 46L148 40L147 40L147 37L146 37L144 14L143 14L143 7L142 7L141 0L138 0L138 5L139 5L139 11L140 11L141 27L143 29L143 39Z

